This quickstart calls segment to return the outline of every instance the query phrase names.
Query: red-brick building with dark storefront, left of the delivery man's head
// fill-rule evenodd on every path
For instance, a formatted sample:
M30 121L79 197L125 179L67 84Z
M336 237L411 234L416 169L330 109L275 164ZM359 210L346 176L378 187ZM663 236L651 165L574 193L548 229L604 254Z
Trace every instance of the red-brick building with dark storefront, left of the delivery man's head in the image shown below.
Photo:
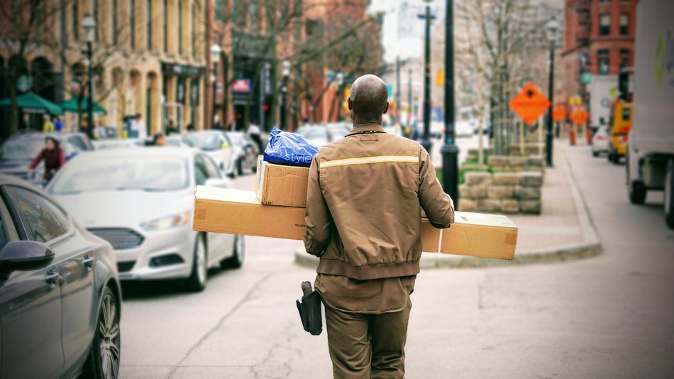
M239 130L250 122L267 130L280 124L284 60L292 67L287 126L336 121L353 78L338 75L341 67L333 67L328 57L332 50L321 47L340 33L333 29L342 23L348 28L370 19L367 6L365 0L209 1L209 45L217 43L222 52L217 64L208 59L209 67L216 67L206 90L208 123ZM379 40L378 26L375 30Z

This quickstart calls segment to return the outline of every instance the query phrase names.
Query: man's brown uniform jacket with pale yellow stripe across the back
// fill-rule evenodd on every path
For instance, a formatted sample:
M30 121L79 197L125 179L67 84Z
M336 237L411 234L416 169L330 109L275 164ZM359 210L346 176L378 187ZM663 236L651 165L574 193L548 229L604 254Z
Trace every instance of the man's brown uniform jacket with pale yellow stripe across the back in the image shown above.
M377 124L319 148L306 194L306 251L319 274L355 280L419 273L421 216L446 228L453 202L426 150Z

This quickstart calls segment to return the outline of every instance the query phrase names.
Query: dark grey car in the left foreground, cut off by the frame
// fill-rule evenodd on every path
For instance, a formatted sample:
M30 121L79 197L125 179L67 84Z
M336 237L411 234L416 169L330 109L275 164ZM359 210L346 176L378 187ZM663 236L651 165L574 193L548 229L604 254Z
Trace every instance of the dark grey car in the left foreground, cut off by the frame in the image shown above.
M0 378L116 378L112 246L30 183L0 175Z

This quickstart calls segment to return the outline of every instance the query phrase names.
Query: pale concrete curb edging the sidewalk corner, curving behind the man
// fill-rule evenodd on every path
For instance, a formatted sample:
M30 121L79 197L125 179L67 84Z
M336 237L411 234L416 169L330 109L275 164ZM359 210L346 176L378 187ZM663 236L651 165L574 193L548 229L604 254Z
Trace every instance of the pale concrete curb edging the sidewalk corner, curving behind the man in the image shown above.
M561 145L556 143L556 148L561 148ZM574 205L578 210L578 223L585 235L584 241L531 251L519 251L515 253L513 260L454 256L443 253L422 253L419 266L421 268L492 268L509 265L570 262L600 256L602 254L602 244L597 237L597 231L590 217L590 210L587 207L585 198L582 197L578 185L575 183L575 177L573 177L573 172L570 170L566 154L563 155L563 165L565 165L565 174L570 183L571 197L573 197ZM319 265L319 258L307 254L303 249L294 251L294 255L295 263L298 265L308 268L316 268Z

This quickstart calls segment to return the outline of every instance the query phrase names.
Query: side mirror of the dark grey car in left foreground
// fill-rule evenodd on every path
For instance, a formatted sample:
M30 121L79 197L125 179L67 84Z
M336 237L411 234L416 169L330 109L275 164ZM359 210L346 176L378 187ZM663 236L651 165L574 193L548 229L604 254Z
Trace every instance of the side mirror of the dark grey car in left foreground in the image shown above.
M35 241L12 241L0 250L0 271L38 270L54 260L54 251Z

